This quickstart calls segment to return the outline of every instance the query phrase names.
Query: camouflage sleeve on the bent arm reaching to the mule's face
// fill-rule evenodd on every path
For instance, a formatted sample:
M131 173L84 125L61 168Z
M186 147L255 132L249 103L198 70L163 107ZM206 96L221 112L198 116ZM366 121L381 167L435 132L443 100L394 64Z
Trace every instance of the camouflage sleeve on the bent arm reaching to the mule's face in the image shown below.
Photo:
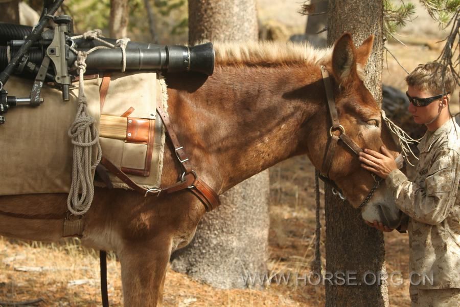
M446 150L437 156L428 170L424 188L423 182L410 182L398 169L385 180L393 191L396 206L414 220L430 225L441 223L451 211L460 179L458 153Z

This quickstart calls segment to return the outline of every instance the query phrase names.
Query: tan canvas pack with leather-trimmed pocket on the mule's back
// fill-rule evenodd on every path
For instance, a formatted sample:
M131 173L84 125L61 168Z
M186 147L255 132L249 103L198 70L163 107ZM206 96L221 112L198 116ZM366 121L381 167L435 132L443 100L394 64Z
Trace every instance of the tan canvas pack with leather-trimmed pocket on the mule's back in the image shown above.
M11 77L9 96L29 97L33 81ZM77 112L78 82L70 101L44 85L38 107L17 106L0 126L0 195L68 193L73 145L68 129ZM89 114L96 119L102 155L138 185L161 182L165 134L156 113L167 108L166 83L160 74L143 72L92 76L84 81ZM113 187L127 185L109 173ZM103 183L95 183L104 186Z

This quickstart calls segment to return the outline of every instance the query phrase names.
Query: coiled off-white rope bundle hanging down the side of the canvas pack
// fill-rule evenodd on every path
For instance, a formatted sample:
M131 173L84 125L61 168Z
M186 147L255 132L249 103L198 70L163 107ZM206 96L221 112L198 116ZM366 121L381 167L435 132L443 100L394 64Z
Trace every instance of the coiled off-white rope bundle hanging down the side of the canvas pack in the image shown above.
M91 206L94 197L92 172L101 161L102 150L99 144L99 131L95 126L96 120L87 112L84 92L85 59L87 53L78 52L75 66L79 70L78 111L75 121L68 129L72 138L73 166L72 184L67 198L67 208L74 215L83 215ZM96 161L93 164L93 146L96 145ZM81 192L81 195L80 195Z

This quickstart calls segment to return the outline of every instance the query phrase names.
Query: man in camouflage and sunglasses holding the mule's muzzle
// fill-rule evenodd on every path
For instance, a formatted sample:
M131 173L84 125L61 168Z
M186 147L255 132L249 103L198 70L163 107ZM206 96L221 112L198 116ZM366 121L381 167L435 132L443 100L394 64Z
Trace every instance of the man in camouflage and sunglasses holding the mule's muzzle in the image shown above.
M443 78L443 70L445 76ZM448 67L420 64L406 77L408 111L427 126L415 178L398 170L385 148L364 149L361 166L385 179L396 205L408 216L410 299L413 306L459 306L460 127L449 112L455 80ZM381 231L382 223L366 222Z

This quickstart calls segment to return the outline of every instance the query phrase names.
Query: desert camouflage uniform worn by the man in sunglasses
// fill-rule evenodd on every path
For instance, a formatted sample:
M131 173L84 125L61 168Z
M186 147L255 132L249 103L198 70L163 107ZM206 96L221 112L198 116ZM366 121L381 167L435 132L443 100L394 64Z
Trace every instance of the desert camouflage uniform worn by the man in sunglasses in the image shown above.
M457 298L460 295L459 137L460 127L453 120L427 131L418 145L415 178L409 180L400 170L386 178L396 205L409 216L411 298L417 299L419 292L420 306L430 305L422 302L422 292L423 297L431 293L430 299L446 295L430 289L451 289Z

